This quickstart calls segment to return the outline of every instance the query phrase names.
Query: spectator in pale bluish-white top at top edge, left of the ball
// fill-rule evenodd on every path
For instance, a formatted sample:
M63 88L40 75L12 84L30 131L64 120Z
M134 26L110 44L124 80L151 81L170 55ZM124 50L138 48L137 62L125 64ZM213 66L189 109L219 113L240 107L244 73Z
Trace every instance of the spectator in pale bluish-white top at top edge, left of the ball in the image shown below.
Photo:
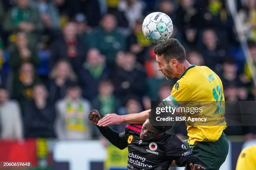
M125 14L131 28L134 27L136 20L142 18L145 7L142 0L120 0L118 4L118 10Z

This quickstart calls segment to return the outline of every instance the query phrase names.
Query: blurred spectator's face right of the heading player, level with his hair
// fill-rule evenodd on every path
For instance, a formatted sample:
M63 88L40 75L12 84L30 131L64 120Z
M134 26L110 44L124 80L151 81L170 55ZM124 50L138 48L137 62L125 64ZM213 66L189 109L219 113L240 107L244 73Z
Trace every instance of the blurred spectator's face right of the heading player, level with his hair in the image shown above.
M217 36L213 30L205 30L203 32L203 43L209 49L214 49L217 45Z

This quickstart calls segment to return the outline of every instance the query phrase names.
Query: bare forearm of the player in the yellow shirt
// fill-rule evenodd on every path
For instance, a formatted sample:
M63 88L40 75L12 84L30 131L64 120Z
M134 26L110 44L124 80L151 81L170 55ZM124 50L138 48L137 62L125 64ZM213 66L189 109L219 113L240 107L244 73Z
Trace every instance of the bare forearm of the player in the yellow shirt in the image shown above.
M148 118L149 112L150 110L146 110L140 113L123 115L122 119L124 123L143 124Z

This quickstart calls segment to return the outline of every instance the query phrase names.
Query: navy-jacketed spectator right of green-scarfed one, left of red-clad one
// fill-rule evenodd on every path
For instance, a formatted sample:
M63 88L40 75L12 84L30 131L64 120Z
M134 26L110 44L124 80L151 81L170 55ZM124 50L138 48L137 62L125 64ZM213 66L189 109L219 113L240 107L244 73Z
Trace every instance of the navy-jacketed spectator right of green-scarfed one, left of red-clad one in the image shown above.
M118 67L113 74L115 94L123 101L124 96L137 95L142 97L145 92L146 72L142 65L136 62L136 56L126 52L125 64Z

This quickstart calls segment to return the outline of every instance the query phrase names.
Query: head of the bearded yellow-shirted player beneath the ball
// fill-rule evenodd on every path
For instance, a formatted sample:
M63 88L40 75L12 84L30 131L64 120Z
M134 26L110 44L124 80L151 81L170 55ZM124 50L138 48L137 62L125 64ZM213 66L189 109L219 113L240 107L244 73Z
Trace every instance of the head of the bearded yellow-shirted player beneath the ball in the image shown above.
M158 70L163 73L167 80L177 76L177 68L186 61L184 47L178 40L171 38L154 47Z

